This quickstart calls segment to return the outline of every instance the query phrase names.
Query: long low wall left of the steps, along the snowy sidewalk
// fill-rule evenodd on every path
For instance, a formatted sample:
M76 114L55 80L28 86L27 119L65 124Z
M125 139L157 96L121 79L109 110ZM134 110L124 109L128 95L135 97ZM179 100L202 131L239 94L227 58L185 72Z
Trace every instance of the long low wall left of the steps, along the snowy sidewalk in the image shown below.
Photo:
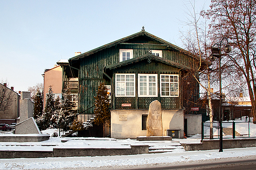
M133 145L130 148L53 148L53 151L5 151L0 150L0 158L43 158L71 156L110 156L149 153L148 145Z

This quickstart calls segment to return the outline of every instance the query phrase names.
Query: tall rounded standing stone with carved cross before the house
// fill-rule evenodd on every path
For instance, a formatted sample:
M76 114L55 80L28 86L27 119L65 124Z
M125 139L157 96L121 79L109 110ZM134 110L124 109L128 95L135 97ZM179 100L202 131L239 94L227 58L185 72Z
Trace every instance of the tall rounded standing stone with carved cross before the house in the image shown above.
M158 100L152 101L149 105L147 136L162 136L162 112Z

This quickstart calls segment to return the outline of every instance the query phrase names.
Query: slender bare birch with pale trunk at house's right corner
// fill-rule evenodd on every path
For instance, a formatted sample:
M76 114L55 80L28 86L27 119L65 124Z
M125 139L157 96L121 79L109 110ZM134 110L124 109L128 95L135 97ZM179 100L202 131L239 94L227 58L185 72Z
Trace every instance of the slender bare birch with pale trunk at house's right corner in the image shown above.
M185 48L192 54L199 56L200 67L198 69L192 70L192 76L197 83L202 87L203 99L208 99L209 105L209 117L210 117L210 139L213 139L213 109L212 109L212 94L211 84L216 80L214 72L216 71L216 66L212 66L211 63L205 62L209 53L209 41L207 40L207 20L203 19L200 15L200 11L196 11L195 0L188 1L185 4L187 20L183 23L186 24L188 30L182 32L182 42ZM204 8L204 6L202 6ZM203 64L204 62L204 64ZM202 66L202 64L204 66ZM211 68L210 68L211 67ZM200 81L199 81L200 78ZM202 103L200 103L202 104Z

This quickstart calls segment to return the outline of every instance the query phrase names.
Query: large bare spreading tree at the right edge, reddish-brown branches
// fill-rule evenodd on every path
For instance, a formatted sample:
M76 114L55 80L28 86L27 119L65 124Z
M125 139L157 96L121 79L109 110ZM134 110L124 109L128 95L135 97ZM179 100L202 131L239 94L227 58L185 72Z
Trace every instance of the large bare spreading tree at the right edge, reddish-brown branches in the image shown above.
M202 11L211 19L209 34L213 42L230 38L232 52L223 65L241 75L248 87L252 115L256 121L256 0L212 0L210 9ZM242 80L241 80L242 81Z

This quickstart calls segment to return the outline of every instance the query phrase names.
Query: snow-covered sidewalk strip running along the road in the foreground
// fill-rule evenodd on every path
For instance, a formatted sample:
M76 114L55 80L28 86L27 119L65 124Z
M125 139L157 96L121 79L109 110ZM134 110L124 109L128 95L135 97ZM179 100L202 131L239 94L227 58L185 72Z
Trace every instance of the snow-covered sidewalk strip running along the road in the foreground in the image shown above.
M15 158L0 159L0 170L32 170L32 169L98 169L129 168L133 166L155 166L181 164L184 162L202 162L209 159L250 157L256 155L256 147L203 150L173 151L157 154L96 156L96 157L59 157L59 158Z

